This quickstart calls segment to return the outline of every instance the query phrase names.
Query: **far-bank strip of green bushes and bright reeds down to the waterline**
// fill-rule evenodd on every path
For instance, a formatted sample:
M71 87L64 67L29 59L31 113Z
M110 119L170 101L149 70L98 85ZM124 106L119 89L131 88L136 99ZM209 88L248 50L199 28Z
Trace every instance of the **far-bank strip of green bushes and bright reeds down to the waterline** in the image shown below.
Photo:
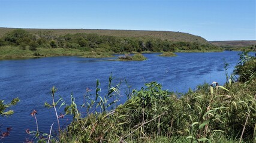
M108 36L95 33L55 35L51 31L28 32L16 29L0 38L0 58L81 55L111 57L130 52L220 51L207 41L171 41L157 36Z

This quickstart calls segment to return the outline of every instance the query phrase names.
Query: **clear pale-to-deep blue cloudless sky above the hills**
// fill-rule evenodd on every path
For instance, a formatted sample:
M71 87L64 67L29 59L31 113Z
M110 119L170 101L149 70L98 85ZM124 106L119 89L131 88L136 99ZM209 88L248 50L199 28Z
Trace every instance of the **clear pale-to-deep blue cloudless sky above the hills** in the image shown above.
M256 40L255 0L0 0L0 27L168 30Z

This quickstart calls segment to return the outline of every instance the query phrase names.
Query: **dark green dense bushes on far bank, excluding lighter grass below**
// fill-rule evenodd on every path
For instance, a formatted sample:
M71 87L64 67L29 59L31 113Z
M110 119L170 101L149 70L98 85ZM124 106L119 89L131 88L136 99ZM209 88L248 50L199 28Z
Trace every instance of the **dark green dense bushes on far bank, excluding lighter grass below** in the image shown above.
M171 42L167 40L162 41L161 39L156 38L120 38L87 33L56 36L50 31L29 33L23 29L16 29L7 33L2 39L0 39L0 46L3 45L22 45L22 47L33 45L32 48L29 48L32 51L35 51L37 48L107 48L109 51L115 53L142 51L160 52L175 51L176 49L218 49L217 46L213 46L210 43Z

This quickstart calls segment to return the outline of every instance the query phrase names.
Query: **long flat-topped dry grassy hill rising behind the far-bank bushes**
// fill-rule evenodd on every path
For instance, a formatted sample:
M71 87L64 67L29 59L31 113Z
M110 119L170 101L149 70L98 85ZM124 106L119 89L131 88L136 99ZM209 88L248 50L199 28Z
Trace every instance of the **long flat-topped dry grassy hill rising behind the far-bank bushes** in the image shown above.
M15 28L1 28L0 38L6 33L11 32ZM95 33L97 35L107 35L116 37L129 38L157 38L161 40L168 40L173 42L199 42L208 43L206 39L200 36L191 35L182 32L168 32L168 31L145 31L145 30L101 30L101 29L24 29L31 33L38 32L52 32L53 35L77 34L77 33Z

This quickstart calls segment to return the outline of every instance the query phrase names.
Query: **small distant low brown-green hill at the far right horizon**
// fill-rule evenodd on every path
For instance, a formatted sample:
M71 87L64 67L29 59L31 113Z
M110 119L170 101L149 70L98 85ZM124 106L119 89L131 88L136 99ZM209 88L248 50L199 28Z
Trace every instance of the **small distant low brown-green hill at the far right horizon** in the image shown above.
M256 41L210 41L213 45L216 46L230 46L230 47L245 47L256 45Z

